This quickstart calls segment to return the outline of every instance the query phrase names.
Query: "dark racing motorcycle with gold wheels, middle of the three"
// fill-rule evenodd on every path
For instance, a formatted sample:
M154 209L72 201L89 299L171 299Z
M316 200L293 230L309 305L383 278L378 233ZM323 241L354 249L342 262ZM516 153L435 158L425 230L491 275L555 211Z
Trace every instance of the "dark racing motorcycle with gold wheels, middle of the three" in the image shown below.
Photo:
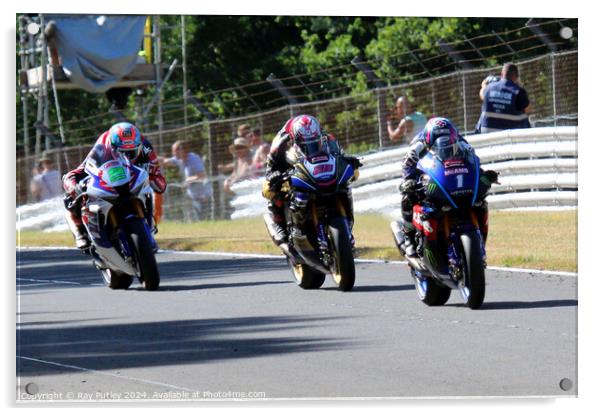
M280 248L287 256L293 276L303 289L318 289L326 274L332 274L341 291L355 284L355 260L351 227L349 184L355 178L355 158L319 154L305 156L289 149L287 159L293 165L282 179L285 218L289 243ZM357 162L359 163L359 162ZM301 233L296 233L291 220L299 206L306 207ZM269 214L264 215L268 232L275 235Z

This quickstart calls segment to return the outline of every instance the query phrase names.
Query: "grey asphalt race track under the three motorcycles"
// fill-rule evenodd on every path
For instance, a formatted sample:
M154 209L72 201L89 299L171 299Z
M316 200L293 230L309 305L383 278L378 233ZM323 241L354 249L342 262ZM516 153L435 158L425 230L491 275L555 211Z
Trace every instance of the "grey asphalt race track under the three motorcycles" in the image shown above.
M75 250L18 251L17 401L577 394L574 275L487 270L473 311L422 304L400 263L341 293L283 258L158 262L158 291L110 290Z

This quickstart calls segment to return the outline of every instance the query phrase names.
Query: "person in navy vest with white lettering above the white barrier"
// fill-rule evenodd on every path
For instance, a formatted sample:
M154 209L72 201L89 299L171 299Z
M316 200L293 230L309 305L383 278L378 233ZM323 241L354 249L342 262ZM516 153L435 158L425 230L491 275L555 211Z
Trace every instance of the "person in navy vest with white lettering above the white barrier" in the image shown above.
M531 104L527 91L519 83L518 67L512 63L504 64L501 79L485 78L484 90L481 85L483 104L476 133L531 127L528 116Z

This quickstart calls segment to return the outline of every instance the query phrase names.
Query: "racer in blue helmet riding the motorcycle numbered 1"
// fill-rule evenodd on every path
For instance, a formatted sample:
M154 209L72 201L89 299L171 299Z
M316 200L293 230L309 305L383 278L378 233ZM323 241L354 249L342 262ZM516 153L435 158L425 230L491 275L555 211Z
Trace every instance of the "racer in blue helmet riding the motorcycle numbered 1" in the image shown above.
M412 209L416 202L419 201L417 193L420 188L418 183L421 172L417 169L418 161L431 149L435 142L440 141L449 145L455 145L458 142L463 142L465 147L474 152L468 142L462 137L454 124L447 118L433 117L431 118L424 129L412 139L410 148L403 159L402 167L402 182L399 185L401 192L401 224L405 237L404 251L408 257L416 256L416 229L412 224ZM476 207L480 210L480 217L483 218L483 223L480 224L483 233L483 241L487 241L488 232L488 207L485 201L487 191L491 188L491 184L498 183L498 172L480 169L480 183L478 200Z

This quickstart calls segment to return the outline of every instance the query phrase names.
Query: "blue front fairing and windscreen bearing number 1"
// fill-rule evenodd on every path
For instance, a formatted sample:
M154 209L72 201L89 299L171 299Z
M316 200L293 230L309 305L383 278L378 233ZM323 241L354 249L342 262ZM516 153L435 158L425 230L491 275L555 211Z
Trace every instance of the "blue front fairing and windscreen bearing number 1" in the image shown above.
M437 152L435 149L420 159L418 168L430 177L427 195L435 194L429 192L429 187L437 186L454 208L474 204L479 184L479 158L472 151L444 149Z

